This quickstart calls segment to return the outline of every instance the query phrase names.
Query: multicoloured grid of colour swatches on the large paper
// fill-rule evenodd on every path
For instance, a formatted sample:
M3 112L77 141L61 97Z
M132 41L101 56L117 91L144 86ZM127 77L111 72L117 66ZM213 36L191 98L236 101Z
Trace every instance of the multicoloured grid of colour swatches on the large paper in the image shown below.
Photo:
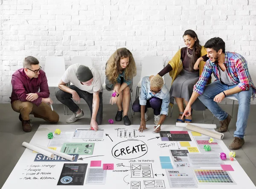
M194 169L198 184L236 184L227 171Z

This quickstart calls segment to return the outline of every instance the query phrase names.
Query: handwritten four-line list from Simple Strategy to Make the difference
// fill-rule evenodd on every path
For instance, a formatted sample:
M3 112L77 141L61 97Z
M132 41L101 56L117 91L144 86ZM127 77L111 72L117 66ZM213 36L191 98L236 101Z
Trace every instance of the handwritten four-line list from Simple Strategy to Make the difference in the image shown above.
M32 164L27 165L22 173L23 180L56 180L52 176L56 165L52 164Z

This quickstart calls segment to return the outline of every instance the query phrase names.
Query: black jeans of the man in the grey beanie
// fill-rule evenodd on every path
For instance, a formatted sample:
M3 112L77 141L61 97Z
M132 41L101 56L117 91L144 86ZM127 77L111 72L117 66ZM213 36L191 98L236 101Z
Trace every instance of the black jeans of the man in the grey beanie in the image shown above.
M84 99L85 102L88 104L91 112L91 117L93 113L93 94L88 93L87 91L81 90L75 85L70 85L70 89L75 90L79 97ZM56 98L59 102L66 105L73 113L77 112L79 110L78 105L72 100L72 94L64 92L63 90L59 90L56 93ZM103 102L102 102L102 93L99 93L99 110L96 116L96 122L97 124L101 124L102 122L102 116L103 116Z

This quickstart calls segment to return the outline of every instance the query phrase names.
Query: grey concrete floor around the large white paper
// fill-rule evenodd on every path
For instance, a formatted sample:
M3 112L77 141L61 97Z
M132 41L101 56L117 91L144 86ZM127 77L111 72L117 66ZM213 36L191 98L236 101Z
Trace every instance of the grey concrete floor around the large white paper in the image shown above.
M85 116L74 124L90 124L90 110L86 104L79 105L83 110ZM232 105L221 105L221 107L231 114ZM62 104L54 104L53 108L60 115L60 121L58 124L66 124L65 120L69 118L71 115L64 115L63 113L63 105ZM233 133L236 129L236 117L237 117L238 105L235 105L234 108L234 118L230 122L229 132L224 134L224 143L229 146L229 144L233 141ZM104 113L103 113L103 122L102 124L108 124L108 119L115 118L117 107L111 105L104 105ZM256 105L251 105L250 116L247 124L245 144L240 150L236 150L236 160L242 166L244 171L256 185L256 147L255 147L255 137L256 137L256 129L255 129L255 112ZM70 112L71 114L71 112ZM193 111L193 122L194 123L203 123L203 112ZM154 124L154 118L152 109L149 109L149 120L147 124ZM38 129L40 124L46 124L46 122L39 118L32 119L32 132L24 133L21 127L21 122L18 119L19 114L15 113L10 104L0 104L0 152L1 161L0 161L0 188L5 183L9 174L12 172L12 169L15 167L17 161L20 156L24 152L25 148L22 147L22 142L29 142L36 130ZM165 124L175 124L176 118L178 116L177 106L173 108L172 118L166 118ZM129 115L131 118L131 115ZM154 117L154 116L153 116ZM210 124L212 122L212 113L209 110L205 111L205 123ZM219 126L218 120L215 118L214 121ZM114 124L123 124L123 122L116 122ZM140 113L136 113L133 118L133 124L140 124ZM6 150L7 149L7 150ZM253 176L254 175L254 176Z

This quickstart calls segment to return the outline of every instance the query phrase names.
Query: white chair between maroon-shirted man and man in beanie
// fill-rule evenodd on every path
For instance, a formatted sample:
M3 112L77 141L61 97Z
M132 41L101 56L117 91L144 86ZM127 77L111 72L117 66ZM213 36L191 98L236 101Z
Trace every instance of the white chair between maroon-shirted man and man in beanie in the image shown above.
M65 70L65 60L63 56L47 56L44 72L47 76L48 86L58 87L58 83L60 82ZM64 104L63 110L65 115L66 111Z

